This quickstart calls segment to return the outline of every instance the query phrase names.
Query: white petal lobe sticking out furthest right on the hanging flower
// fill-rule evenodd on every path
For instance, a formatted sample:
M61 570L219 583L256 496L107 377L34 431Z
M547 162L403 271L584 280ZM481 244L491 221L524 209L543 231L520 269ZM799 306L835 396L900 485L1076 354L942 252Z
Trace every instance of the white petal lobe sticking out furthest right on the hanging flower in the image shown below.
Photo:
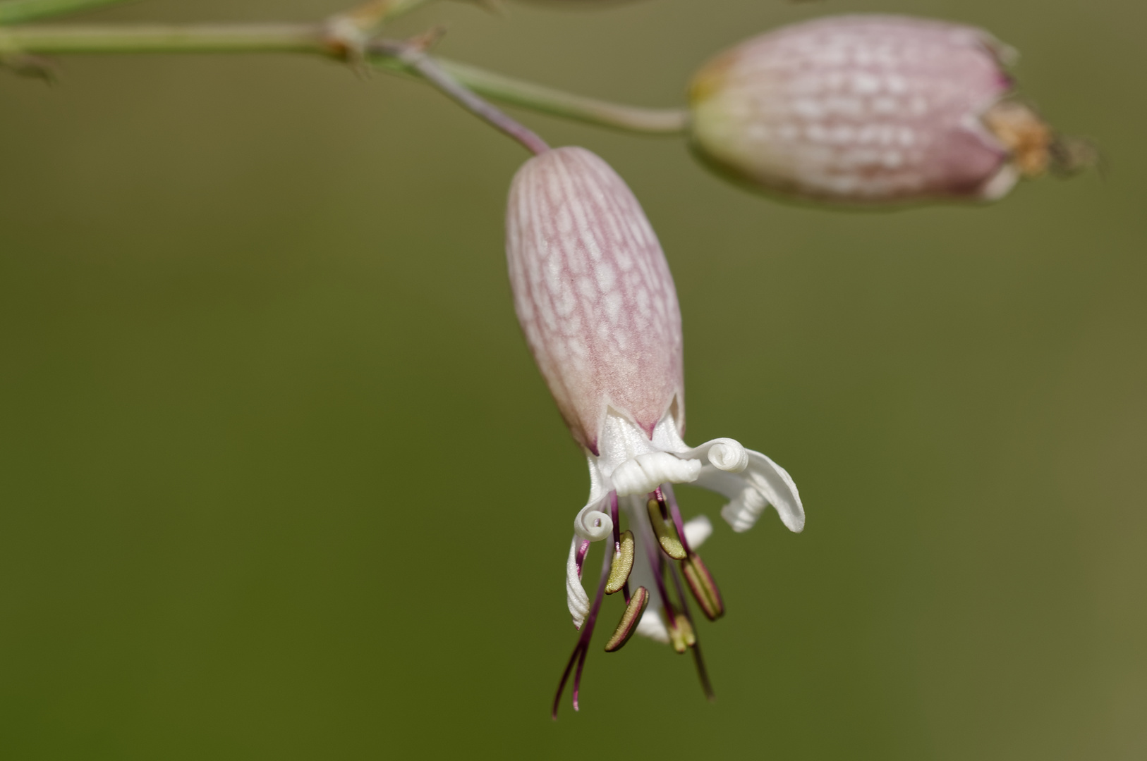
M770 504L777 509L781 523L789 531L804 528L804 507L796 484L783 468L751 449L746 449L749 466L742 473L729 473L707 465L701 470L697 486L703 486L728 497L720 513L733 531L752 528L757 518Z

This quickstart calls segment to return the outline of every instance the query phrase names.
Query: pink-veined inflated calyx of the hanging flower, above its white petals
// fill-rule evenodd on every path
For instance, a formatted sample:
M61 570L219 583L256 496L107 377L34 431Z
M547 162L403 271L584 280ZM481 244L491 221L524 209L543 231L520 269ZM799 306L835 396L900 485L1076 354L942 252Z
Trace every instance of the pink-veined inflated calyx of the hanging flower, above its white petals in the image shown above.
M559 148L518 170L506 221L514 305L574 438L593 454L612 408L648 436L676 400L681 314L641 205L603 160Z

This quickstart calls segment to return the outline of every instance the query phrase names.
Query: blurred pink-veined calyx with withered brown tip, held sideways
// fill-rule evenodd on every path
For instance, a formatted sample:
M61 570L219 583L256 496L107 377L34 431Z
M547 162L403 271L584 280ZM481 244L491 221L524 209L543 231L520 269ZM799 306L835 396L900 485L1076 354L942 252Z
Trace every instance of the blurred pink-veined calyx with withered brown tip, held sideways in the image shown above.
M750 39L694 77L693 143L786 196L843 204L993 201L1068 150L1002 100L1012 48L904 16L836 16ZM1054 168L1054 166L1053 166Z

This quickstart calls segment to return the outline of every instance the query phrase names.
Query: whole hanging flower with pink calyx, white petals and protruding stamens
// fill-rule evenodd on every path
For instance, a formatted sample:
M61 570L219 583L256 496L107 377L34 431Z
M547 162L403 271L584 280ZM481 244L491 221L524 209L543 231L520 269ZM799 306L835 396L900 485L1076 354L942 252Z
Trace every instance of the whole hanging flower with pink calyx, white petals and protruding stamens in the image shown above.
M693 651L709 691L684 589L710 619L724 613L696 554L711 526L686 524L672 485L694 483L728 497L721 515L750 528L772 504L791 531L804 510L789 474L732 439L690 448L685 433L681 315L669 265L641 205L601 158L559 148L518 170L507 212L514 305L533 353L590 465L590 499L574 519L567 604L580 629L554 700L577 666L574 706L603 595L625 611L606 643L635 631ZM622 531L624 510L627 531ZM591 604L582 570L591 542L606 542ZM684 578L684 583L682 583Z

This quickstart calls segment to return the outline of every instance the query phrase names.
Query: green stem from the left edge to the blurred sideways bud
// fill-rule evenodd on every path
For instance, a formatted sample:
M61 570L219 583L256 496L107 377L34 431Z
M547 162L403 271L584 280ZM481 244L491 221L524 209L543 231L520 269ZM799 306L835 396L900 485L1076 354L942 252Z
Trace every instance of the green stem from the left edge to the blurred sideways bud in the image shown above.
M387 46L368 44L377 66L420 76ZM325 24L14 26L0 28L0 53L42 55L132 53L309 53L345 60L344 41ZM513 79L463 63L431 58L468 89L521 108L643 134L681 134L688 115L609 103Z

